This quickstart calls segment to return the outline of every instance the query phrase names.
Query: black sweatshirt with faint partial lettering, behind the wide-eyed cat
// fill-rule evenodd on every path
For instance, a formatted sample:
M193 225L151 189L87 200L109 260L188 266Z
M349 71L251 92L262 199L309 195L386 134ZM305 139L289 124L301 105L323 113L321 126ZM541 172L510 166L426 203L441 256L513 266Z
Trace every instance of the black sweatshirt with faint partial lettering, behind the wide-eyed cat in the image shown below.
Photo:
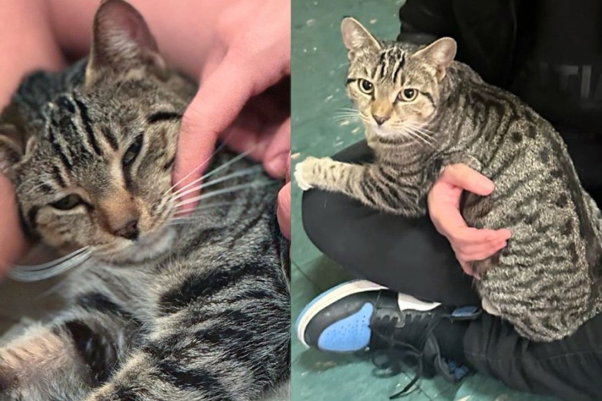
M602 133L602 2L408 0L401 34L451 36L457 59L556 125Z

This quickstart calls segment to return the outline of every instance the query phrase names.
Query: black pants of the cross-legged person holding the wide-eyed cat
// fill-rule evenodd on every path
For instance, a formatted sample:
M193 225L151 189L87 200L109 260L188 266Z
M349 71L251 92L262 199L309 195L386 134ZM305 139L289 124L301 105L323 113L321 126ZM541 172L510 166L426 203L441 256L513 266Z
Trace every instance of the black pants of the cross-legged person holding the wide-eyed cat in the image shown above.
M372 152L359 142L334 158L365 162ZM480 304L471 278L427 216L392 216L319 190L304 194L302 212L311 241L358 276L426 301ZM473 369L514 389L571 401L602 399L602 315L563 340L536 343L485 313L468 326L464 354Z

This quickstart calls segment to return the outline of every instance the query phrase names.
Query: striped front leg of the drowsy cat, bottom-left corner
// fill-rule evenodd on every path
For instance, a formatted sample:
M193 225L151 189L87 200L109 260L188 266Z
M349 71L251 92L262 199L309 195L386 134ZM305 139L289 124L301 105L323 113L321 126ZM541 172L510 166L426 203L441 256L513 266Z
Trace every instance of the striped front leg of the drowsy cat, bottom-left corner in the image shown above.
M82 400L129 351L136 322L97 296L0 348L0 400Z

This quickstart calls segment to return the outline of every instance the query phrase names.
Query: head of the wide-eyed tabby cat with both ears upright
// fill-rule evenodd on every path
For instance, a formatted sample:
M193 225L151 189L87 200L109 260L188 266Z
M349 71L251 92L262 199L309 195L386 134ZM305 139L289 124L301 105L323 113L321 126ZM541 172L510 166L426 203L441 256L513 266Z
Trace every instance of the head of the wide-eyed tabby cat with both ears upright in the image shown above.
M401 44L377 41L353 18L343 19L341 32L349 50L347 93L368 129L403 136L432 120L441 80L455 56L453 39L412 54Z

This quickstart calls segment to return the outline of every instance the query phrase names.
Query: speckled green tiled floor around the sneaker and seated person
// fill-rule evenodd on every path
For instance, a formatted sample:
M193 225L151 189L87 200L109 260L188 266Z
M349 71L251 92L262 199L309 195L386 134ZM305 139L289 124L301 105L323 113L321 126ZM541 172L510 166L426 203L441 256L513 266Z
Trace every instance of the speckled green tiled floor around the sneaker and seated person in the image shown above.
M347 55L340 20L351 15L382 37L394 39L403 0L293 0L293 164L306 156L329 156L363 138L356 122L336 120L349 107L345 95ZM293 166L294 168L294 166ZM348 277L309 241L301 225L301 192L293 185L293 321L313 297ZM306 350L293 339L293 400L387 400L413 372L389 378L373 375L357 357ZM408 377L409 376L409 377ZM421 380L405 400L544 400L472 375L458 385Z

